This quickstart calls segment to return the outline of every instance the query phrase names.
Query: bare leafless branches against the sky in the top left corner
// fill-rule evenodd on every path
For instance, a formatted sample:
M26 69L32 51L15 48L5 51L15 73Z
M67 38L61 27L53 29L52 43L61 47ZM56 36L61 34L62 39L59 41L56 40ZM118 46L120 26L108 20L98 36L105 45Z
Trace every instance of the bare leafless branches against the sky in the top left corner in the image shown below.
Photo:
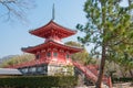
M32 0L0 0L0 18L9 20L27 21L25 13L29 9L33 8Z

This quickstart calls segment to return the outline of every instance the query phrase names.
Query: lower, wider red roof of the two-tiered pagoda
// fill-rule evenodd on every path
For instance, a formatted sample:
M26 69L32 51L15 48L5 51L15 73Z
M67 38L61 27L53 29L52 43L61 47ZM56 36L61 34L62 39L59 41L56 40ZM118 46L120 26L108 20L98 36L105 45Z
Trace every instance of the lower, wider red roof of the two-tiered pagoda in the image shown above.
M37 54L37 52L39 51L49 50L49 48L58 48L62 51L68 51L70 54L78 53L83 50L81 47L64 45L64 44L50 40L47 43L43 43L37 46L29 46L29 47L22 48L22 51L27 53Z

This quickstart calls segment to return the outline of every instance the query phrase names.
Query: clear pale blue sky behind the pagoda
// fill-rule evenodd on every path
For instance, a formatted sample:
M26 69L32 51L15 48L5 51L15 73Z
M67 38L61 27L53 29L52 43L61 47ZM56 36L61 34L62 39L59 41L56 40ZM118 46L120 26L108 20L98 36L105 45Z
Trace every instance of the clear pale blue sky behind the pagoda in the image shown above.
M45 25L52 19L52 6L54 3L55 19L58 24L76 30L78 23L86 22L83 6L85 0L32 0L33 7L29 9L24 16L27 22L10 20L6 21L6 16L0 15L0 58L8 55L23 54L21 47L34 46L44 42L43 38L29 34L29 30L38 29ZM125 1L125 0L123 0ZM32 4L31 3L31 4ZM125 4L123 2L122 4ZM6 9L0 4L0 11ZM16 19L16 18L13 18ZM78 33L66 37L63 42L75 41ZM91 50L88 47L88 51Z

